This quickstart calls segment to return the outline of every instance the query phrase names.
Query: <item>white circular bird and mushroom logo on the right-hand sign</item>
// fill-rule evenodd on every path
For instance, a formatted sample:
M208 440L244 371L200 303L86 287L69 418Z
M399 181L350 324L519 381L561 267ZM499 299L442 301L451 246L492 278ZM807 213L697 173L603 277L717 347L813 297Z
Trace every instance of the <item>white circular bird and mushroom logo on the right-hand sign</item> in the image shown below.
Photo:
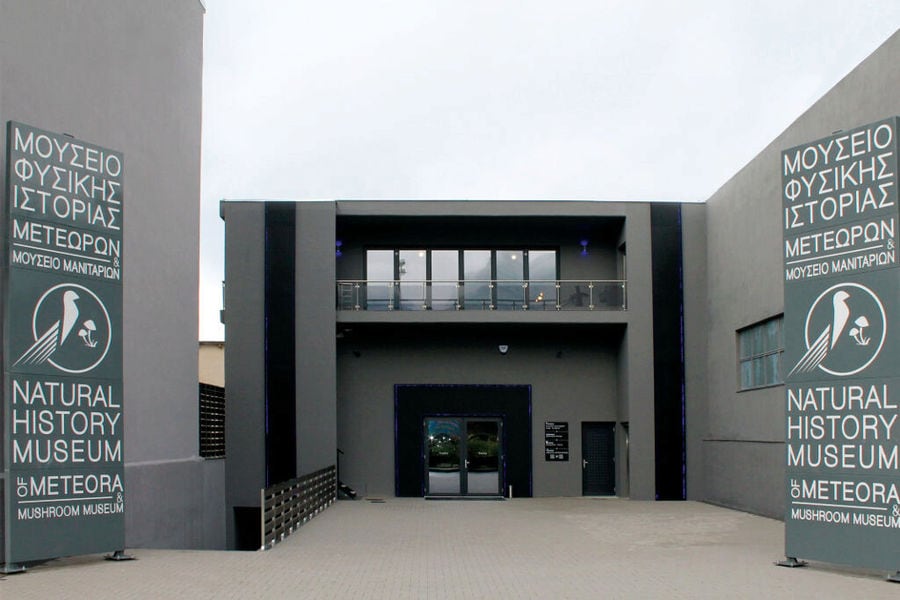
M866 337L867 328L877 335ZM886 331L884 306L872 290L857 283L832 286L816 298L806 315L806 352L788 377L816 369L836 376L859 373L881 352ZM878 343L872 344L875 339Z

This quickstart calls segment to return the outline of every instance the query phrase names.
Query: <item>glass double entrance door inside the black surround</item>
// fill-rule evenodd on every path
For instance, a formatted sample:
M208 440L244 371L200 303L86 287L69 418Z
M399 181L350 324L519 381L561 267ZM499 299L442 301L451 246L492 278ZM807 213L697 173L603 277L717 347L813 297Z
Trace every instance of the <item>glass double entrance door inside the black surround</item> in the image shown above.
M500 419L428 417L426 496L499 496L503 489Z

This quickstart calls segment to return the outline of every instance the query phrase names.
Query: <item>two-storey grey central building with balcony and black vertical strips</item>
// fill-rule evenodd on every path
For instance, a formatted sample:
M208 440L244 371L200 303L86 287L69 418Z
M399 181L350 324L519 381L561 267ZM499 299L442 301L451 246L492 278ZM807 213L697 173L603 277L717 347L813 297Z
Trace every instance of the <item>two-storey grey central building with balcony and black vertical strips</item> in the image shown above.
M366 495L684 498L679 205L238 201L222 216L229 513L338 451ZM474 448L481 421L499 428L489 492L474 456L429 464L430 426L469 427ZM443 488L440 469L464 483Z

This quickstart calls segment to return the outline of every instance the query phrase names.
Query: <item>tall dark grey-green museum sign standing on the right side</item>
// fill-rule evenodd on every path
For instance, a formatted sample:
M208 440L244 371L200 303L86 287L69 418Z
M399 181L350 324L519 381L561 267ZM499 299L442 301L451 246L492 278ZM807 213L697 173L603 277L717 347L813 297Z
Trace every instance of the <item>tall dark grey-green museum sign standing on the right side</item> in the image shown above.
M897 133L782 153L789 557L900 567Z

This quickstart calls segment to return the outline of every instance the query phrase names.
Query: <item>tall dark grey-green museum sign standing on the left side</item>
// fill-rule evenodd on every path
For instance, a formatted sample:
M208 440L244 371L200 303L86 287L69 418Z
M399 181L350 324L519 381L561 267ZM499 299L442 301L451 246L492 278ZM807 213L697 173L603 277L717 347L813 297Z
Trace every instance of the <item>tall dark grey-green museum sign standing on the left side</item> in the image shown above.
M7 564L124 547L120 152L9 122Z

